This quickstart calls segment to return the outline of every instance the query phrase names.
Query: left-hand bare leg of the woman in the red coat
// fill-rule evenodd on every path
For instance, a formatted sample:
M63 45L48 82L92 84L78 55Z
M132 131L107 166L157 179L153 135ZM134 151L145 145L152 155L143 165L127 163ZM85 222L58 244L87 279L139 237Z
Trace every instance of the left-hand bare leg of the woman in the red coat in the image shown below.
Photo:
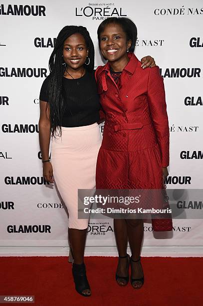
M128 245L128 235L127 235L127 223L125 219L114 219L114 232L116 237L116 243L118 247L119 256L125 256L127 253L127 245ZM128 275L128 257L119 258L118 266L116 273L119 276L127 276ZM126 280L122 278L118 278L118 283L120 285L125 285Z

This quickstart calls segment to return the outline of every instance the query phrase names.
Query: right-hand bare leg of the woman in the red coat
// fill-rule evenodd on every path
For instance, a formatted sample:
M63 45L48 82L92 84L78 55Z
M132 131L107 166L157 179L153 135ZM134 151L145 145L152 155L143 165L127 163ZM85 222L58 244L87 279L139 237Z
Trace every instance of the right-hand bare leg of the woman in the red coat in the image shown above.
M129 243L132 252L132 259L139 260L140 250L144 234L144 222L143 219L127 219L127 232ZM140 261L131 261L132 278L143 277L143 269ZM139 288L142 286L141 281L134 281L133 287Z

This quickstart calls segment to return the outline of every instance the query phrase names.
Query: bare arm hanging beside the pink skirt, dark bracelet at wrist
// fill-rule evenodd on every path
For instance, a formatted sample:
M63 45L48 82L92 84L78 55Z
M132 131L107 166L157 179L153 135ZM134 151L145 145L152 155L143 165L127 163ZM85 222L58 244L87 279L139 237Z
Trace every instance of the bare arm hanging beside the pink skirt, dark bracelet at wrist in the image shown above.
M41 149L41 156L42 160L49 159L49 143L50 143L50 111L49 105L46 108L45 101L39 101L40 105L40 117L39 117L39 145ZM43 176L45 177L46 181L53 182L53 169L51 163L44 162L43 163Z

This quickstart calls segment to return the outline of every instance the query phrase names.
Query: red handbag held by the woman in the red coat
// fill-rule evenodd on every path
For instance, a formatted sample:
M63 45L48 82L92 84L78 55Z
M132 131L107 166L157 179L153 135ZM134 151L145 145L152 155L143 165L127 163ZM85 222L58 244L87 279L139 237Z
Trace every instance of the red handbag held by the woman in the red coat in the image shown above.
M170 208L169 197L167 195L166 185L164 183L163 183L163 194L164 194L163 208ZM152 218L152 227L154 231L173 230L172 214L166 213L164 218L163 215L160 215L160 218Z

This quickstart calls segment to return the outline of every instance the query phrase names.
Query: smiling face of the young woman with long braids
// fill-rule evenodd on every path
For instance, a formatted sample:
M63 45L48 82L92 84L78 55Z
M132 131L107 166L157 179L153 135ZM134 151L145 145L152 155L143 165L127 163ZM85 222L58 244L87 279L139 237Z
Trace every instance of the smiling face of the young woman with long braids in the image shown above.
M69 36L63 44L63 59L71 69L79 69L84 65L88 55L85 38L80 33Z

